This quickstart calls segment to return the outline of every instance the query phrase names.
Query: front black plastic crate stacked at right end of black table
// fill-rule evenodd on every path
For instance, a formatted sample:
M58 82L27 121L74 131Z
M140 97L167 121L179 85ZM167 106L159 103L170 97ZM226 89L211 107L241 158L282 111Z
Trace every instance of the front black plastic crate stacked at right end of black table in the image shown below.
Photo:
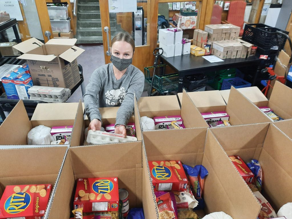
M281 30L276 27L257 28L256 35L254 37L254 44L265 50L277 50L278 46L280 49L283 49L286 43L286 37L277 34L276 31L281 31L287 35L289 34L288 31Z

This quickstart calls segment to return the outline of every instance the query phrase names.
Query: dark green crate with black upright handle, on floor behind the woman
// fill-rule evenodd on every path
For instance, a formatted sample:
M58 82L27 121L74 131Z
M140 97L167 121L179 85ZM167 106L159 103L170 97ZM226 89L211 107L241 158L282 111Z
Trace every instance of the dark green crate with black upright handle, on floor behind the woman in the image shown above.
M154 66L145 67L145 79L151 85L154 72ZM155 70L153 88L159 93L168 93L178 91L178 74L173 73L173 70L168 65L158 65Z

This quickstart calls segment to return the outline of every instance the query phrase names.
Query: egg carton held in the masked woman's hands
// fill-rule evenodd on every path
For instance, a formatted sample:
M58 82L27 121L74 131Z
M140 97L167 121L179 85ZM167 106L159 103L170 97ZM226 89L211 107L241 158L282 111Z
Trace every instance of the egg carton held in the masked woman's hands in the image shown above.
M99 145L129 141L137 141L137 138L132 136L123 138L120 134L89 130L84 145Z

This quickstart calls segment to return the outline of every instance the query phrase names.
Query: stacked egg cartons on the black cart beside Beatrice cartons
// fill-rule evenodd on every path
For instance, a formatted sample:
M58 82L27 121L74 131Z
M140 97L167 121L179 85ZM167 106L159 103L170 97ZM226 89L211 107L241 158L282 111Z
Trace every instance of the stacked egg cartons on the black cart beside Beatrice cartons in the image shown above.
M28 89L29 100L41 100L44 102L66 102L71 95L68 88L32 86Z

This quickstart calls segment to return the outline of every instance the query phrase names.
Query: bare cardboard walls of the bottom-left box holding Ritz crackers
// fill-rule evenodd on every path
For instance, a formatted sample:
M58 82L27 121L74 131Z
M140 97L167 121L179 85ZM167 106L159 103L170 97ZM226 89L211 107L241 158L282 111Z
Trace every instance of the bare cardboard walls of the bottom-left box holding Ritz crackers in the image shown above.
M66 146L0 149L0 198L7 185L52 184L50 203L66 153Z

